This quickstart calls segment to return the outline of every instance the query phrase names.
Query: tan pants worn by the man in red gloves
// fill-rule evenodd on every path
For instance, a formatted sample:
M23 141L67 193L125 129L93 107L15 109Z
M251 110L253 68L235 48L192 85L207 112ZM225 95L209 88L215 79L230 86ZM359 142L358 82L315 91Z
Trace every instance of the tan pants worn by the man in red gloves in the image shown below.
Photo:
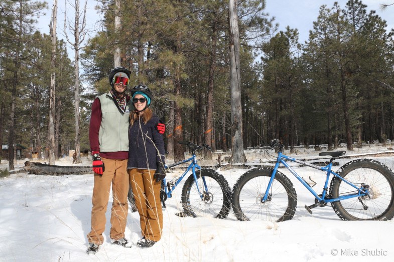
M105 229L105 211L107 210L109 190L112 184L112 209L111 209L111 239L124 237L127 219L127 193L129 180L127 174L127 159L101 158L105 171L102 176L94 174L92 196L91 231L87 234L90 243L102 244L102 233Z

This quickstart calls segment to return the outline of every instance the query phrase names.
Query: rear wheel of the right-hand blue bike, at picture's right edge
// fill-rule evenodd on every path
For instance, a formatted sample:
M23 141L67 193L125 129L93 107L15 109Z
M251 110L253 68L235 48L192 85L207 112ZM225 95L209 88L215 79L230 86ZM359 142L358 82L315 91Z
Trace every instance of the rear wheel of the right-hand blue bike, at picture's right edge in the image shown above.
M332 202L332 208L342 220L389 220L394 217L394 174L392 170L372 159L357 159L346 163L337 172L356 186L367 186L369 195ZM332 198L357 194L338 177L330 184Z

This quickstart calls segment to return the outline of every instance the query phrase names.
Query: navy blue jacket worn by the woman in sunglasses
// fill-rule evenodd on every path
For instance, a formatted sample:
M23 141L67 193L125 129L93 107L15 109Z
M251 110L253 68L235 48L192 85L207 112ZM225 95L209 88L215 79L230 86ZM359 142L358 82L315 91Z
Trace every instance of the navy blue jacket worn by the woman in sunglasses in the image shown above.
M163 135L155 125L159 118L153 116L146 124L137 120L128 129L128 162L127 169L156 170L157 162L165 163Z

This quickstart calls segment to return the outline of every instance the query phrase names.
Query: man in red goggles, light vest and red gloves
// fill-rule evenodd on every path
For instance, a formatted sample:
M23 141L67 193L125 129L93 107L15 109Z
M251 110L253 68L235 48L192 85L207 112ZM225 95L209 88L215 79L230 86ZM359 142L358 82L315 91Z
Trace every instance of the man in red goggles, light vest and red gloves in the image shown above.
M130 97L125 94L130 73L122 67L113 69L108 76L111 90L97 97L92 105L89 141L93 156L94 186L91 231L87 234L88 254L96 253L103 243L105 211L111 185L113 202L109 236L113 244L129 247L127 239L124 238L124 230L129 189L127 133L130 109L134 109L129 103ZM164 133L163 124L156 128L160 133Z

